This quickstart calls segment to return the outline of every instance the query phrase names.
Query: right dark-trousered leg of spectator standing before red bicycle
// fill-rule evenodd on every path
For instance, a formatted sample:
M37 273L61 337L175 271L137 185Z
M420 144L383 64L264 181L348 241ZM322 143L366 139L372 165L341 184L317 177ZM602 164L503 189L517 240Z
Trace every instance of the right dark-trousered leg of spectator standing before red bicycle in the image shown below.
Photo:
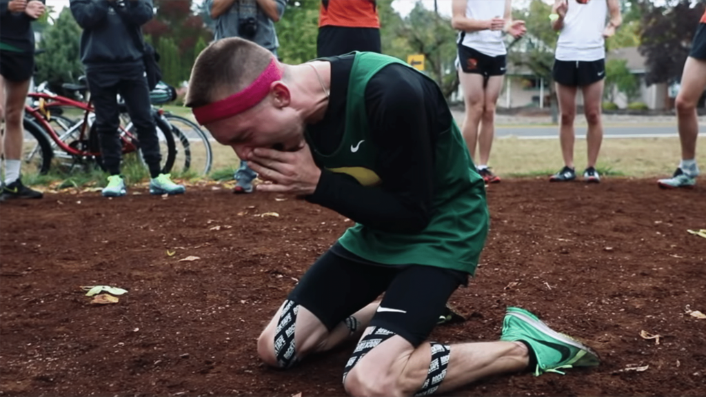
M119 84L120 95L125 100L128 114L138 134L140 152L150 169L150 177L156 178L162 172L160 142L157 139L155 119L150 105L150 89L144 78L123 80Z

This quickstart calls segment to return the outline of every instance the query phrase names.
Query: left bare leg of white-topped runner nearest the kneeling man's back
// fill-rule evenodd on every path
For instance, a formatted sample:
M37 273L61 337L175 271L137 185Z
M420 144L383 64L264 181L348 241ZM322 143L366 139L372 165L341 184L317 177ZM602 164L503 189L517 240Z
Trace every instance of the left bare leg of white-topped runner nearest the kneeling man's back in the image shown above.
M466 105L466 114L461 126L461 133L466 141L466 146L468 146L471 159L476 162L478 124L481 121L484 105L483 76L478 73L464 73L459 69L458 78Z

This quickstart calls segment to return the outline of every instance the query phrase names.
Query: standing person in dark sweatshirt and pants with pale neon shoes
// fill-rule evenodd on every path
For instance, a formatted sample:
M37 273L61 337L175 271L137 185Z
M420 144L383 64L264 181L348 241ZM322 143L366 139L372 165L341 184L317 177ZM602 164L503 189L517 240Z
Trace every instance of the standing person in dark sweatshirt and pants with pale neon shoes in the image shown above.
M80 54L95 108L95 125L100 153L110 176L102 194L124 196L120 175L121 142L118 132L120 94L135 124L140 150L150 169L151 194L181 194L184 186L162 174L160 146L150 107L150 90L145 78L140 26L152 19L152 0L71 0L71 13L83 28ZM141 45L141 43L140 43Z

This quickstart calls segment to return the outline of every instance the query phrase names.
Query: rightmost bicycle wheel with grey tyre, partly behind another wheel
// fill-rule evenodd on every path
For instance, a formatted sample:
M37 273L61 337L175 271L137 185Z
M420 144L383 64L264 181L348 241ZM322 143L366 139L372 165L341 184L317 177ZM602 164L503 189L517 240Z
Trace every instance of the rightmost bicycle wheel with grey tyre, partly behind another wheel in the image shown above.
M213 151L207 133L185 117L171 113L164 113L162 117L172 126L174 135L177 136L177 161L174 163L174 172L208 174L213 165Z

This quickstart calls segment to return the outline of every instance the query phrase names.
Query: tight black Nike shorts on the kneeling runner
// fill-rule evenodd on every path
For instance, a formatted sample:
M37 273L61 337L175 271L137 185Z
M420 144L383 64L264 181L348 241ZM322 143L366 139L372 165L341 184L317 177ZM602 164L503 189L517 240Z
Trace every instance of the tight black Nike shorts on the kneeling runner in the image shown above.
M329 330L385 296L371 321L419 346L443 314L467 273L433 266L384 266L362 259L336 243L289 293L289 300L312 312Z

